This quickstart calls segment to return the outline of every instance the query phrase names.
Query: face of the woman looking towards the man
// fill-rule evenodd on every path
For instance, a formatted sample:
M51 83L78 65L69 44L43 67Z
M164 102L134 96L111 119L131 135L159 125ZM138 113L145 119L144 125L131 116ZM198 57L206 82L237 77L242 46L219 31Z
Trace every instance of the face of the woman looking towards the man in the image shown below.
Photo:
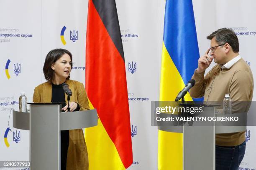
M59 60L51 65L51 69L54 70L54 78L66 79L69 77L71 64L70 56L68 54L62 55Z

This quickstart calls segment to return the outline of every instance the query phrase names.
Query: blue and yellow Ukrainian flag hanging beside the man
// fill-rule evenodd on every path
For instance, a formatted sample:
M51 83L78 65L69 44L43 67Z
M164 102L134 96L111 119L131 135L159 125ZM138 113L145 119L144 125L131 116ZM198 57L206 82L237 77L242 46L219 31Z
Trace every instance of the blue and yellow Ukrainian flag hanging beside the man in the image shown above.
M192 0L166 0L160 100L174 101L197 68L199 49ZM192 101L189 94L186 101ZM183 169L183 135L159 130L158 169Z

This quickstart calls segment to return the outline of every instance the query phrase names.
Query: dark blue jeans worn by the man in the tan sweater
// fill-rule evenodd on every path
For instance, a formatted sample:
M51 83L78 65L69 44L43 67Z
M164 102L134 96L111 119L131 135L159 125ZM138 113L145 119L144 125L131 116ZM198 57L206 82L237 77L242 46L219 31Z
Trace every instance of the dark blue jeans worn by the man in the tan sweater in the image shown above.
M237 146L215 146L215 170L238 170L246 150L246 141Z

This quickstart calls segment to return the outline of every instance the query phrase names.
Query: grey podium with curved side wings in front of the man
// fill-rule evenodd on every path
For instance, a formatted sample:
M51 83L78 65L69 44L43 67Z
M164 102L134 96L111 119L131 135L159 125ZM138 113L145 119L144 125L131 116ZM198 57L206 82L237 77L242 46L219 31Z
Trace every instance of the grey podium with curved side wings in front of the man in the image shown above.
M218 116L212 106L204 107L203 114ZM183 133L183 170L215 170L215 134L242 132L246 126L223 126L218 122L203 125L195 121L193 126L186 122L183 126L158 126L158 129Z

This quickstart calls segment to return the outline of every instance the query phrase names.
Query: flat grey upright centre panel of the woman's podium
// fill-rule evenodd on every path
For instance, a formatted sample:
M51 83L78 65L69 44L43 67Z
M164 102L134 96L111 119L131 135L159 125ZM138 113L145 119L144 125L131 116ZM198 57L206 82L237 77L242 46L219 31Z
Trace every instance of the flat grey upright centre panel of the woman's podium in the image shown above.
M31 105L31 170L60 169L60 105Z

